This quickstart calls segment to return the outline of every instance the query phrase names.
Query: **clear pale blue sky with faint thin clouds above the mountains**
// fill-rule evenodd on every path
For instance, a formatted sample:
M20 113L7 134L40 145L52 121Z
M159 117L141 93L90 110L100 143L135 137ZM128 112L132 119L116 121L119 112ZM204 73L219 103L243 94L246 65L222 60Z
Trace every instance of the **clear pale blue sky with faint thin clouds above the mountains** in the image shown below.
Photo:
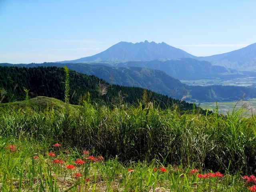
M0 0L0 62L73 60L144 40L221 54L256 42L255 10L255 0Z

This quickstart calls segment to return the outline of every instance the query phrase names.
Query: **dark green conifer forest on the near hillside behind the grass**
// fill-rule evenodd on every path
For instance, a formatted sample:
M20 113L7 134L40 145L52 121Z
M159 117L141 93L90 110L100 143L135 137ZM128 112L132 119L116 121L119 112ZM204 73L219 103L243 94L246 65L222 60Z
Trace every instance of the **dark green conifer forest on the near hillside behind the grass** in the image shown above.
M81 99L88 98L89 93L91 100L95 102L103 100L107 104L152 102L161 108L178 106L182 111L193 109L193 104L143 88L109 84L94 75L88 76L72 70L69 71L69 75L71 104L78 104ZM26 96L24 89L29 90L30 98L47 96L64 101L64 76L63 68L58 67L0 67L0 88L4 88L7 92L2 102L24 100ZM99 94L102 88L106 88L106 94ZM198 108L198 110L202 109Z

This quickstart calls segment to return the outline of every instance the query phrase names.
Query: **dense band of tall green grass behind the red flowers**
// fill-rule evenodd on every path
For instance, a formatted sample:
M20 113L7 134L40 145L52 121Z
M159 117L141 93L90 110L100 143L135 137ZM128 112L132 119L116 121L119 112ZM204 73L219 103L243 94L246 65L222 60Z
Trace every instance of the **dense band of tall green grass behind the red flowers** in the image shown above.
M256 119L216 113L180 114L142 104L106 106L84 101L65 109L2 110L0 135L38 138L94 151L122 161L150 161L254 173Z

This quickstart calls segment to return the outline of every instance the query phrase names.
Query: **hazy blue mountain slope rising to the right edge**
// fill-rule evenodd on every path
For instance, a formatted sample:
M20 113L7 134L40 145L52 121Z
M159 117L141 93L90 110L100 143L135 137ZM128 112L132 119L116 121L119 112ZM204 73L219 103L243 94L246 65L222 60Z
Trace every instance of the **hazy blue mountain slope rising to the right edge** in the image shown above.
M197 59L238 71L256 71L256 43L228 53L198 57Z

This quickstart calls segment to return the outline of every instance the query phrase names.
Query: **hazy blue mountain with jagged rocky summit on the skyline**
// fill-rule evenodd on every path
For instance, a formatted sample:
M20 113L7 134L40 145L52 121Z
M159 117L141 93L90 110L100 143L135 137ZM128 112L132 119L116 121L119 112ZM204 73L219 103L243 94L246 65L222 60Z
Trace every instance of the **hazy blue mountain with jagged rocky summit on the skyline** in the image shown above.
M60 63L81 63L81 62L100 62L100 61L150 61L156 59L178 59L196 58L181 49L172 47L164 42L145 42L129 43L119 42L107 50L93 56L84 57L76 60L62 61Z

